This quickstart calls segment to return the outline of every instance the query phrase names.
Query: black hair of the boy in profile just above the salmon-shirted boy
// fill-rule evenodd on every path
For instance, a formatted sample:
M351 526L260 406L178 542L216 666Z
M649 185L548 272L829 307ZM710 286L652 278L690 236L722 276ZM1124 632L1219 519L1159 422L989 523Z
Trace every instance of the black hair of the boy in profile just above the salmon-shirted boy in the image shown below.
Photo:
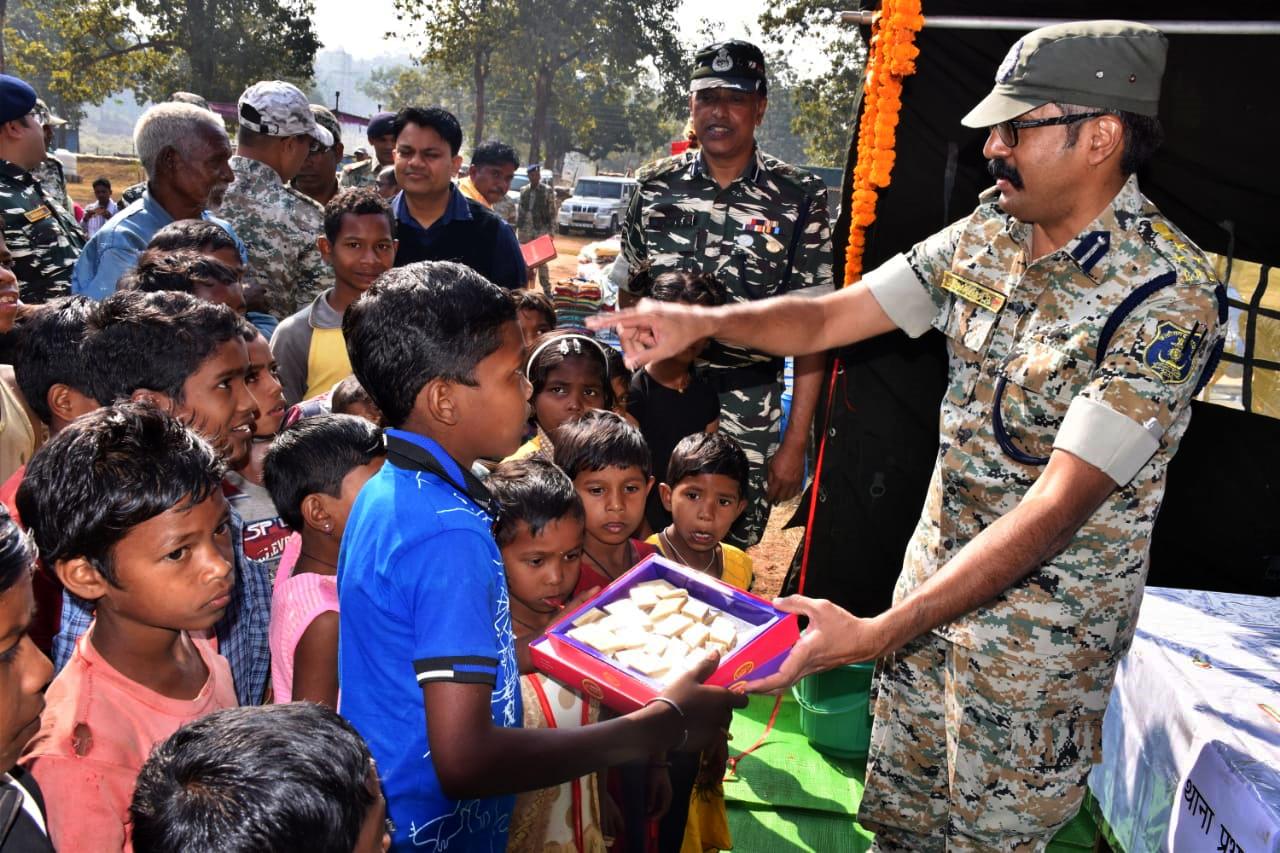
M239 337L239 318L225 305L189 293L113 293L95 306L84 334L93 400L108 405L145 388L180 403L191 374Z

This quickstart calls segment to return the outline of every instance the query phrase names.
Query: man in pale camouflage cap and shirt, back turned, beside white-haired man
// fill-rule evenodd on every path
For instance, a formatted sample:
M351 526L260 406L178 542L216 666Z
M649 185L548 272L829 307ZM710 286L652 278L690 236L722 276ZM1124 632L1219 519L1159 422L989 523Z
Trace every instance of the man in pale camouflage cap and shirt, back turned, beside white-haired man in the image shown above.
M316 238L324 207L287 184L312 149L330 146L333 134L316 124L311 105L296 87L264 81L239 97L236 182L218 214L248 248L247 300L261 295L276 319L294 314L332 284ZM250 301L250 307L256 307Z

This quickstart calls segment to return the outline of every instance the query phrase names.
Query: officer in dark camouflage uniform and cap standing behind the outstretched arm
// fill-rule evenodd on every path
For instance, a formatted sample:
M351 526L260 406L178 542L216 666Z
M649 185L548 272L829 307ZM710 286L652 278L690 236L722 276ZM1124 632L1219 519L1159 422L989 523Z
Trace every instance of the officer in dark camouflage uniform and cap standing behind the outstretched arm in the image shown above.
M648 263L654 275L716 273L736 302L829 293L826 186L754 145L768 93L760 50L745 41L703 49L690 88L701 147L640 170L640 188L622 227L625 263L614 264L614 282L626 289L628 270ZM733 102L748 99L755 114L745 127L735 127ZM717 175L731 145L741 146L744 158L733 174ZM786 500L803 485L823 356L808 356L796 365L792 418L781 446L782 360L721 341L712 342L703 357L707 378L719 389L719 428L742 444L751 462L748 508L730 535L733 544L745 547L764 533L771 498Z

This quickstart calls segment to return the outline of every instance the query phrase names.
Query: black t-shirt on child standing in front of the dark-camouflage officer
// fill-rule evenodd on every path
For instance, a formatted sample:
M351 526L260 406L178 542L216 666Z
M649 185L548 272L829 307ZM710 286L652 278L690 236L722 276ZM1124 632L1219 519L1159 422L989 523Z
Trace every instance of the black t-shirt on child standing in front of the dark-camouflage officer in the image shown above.
M641 369L631 377L627 414L640 424L640 432L653 455L653 475L658 483L663 483L671 452L680 439L705 430L712 421L719 419L719 396L709 383L696 377L690 379L684 391L675 391ZM671 515L662 507L657 485L649 492L645 517L654 533L671 524Z

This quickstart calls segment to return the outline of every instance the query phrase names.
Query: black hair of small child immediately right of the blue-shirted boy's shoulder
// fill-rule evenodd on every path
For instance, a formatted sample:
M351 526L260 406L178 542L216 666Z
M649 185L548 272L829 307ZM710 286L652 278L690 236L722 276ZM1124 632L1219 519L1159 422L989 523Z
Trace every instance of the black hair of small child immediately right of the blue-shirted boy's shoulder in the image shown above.
M544 459L503 462L485 480L485 487L498 502L493 538L499 548L511 544L521 521L536 537L548 524L564 516L586 519L573 482Z

